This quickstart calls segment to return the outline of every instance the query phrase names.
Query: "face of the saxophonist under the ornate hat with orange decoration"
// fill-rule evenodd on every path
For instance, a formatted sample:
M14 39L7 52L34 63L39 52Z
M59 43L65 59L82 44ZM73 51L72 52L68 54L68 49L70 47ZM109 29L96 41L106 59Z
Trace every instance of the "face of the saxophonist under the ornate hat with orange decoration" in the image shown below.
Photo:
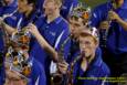
M70 30L74 39L77 39L80 31L84 28L82 19L70 19Z

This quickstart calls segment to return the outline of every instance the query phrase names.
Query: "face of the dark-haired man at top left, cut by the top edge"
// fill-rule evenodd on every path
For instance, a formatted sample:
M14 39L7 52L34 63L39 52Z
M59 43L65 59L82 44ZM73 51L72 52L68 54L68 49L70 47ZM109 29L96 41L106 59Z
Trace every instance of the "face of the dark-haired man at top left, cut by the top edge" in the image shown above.
M18 9L19 9L19 12L21 13L24 13L27 12L27 8L28 8L28 1L27 0L18 0Z

